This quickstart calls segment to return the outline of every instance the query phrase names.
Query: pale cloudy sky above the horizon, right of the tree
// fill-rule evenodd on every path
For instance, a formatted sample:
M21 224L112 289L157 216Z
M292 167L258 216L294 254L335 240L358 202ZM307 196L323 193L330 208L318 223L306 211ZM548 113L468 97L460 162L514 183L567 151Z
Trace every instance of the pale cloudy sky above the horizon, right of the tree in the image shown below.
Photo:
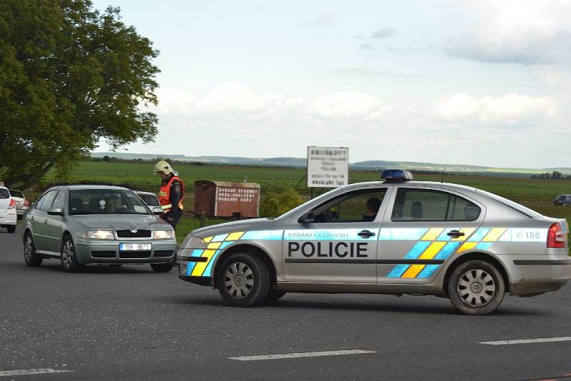
M156 141L118 152L571 166L571 1L108 5L160 51Z

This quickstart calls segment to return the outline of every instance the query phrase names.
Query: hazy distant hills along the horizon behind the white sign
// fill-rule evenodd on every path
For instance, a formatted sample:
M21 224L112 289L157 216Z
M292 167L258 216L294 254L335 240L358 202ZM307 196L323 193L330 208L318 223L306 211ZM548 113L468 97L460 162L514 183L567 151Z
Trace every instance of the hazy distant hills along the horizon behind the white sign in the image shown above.
M288 167L305 168L307 160L305 158L243 158L238 156L185 156L185 155L163 155L156 153L117 153L117 152L93 152L92 158L103 158L103 156L114 157L122 160L152 160L154 158L166 158L176 161L188 161L189 163L209 163L226 164L233 166L268 166L268 167ZM468 166L463 164L443 164L443 163L418 163L414 161L359 161L350 163L349 168L353 171L379 171L387 168L403 168L416 172L441 172L466 173L481 175L511 175L529 176L534 173L545 173L559 171L564 175L571 175L571 168L495 168L484 166Z

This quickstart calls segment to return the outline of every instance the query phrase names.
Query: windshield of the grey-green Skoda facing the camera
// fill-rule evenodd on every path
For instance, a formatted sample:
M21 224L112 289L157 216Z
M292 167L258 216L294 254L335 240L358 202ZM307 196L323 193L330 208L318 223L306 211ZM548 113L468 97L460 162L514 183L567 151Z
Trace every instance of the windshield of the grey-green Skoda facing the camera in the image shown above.
M120 189L81 189L69 192L69 215L151 214L131 191Z

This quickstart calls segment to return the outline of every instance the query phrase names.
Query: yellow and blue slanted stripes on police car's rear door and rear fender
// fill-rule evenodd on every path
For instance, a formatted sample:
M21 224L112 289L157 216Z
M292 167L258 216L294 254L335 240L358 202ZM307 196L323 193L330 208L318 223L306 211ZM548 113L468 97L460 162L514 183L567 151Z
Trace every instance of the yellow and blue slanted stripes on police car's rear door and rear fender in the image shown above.
M423 230L421 235L417 235L420 240L405 255L405 260L447 260L454 253L461 253L466 250L488 250L494 242L505 235L507 228L479 228L475 233L473 233L475 228L430 228L420 230ZM450 230L459 230L464 235L451 238L448 235ZM398 234L402 234L402 232L398 232ZM382 238L379 237L379 239ZM438 268L440 268L440 265L395 265L387 277L430 278Z

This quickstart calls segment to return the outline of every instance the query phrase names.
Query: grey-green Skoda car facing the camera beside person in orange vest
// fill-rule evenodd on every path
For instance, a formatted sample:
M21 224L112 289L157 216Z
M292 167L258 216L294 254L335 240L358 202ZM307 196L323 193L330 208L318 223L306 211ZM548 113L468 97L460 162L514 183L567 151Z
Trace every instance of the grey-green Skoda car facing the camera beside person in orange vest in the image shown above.
M174 230L133 191L113 186L50 188L24 215L24 260L38 266L61 260L72 272L88 263L149 263L171 270L176 251Z

